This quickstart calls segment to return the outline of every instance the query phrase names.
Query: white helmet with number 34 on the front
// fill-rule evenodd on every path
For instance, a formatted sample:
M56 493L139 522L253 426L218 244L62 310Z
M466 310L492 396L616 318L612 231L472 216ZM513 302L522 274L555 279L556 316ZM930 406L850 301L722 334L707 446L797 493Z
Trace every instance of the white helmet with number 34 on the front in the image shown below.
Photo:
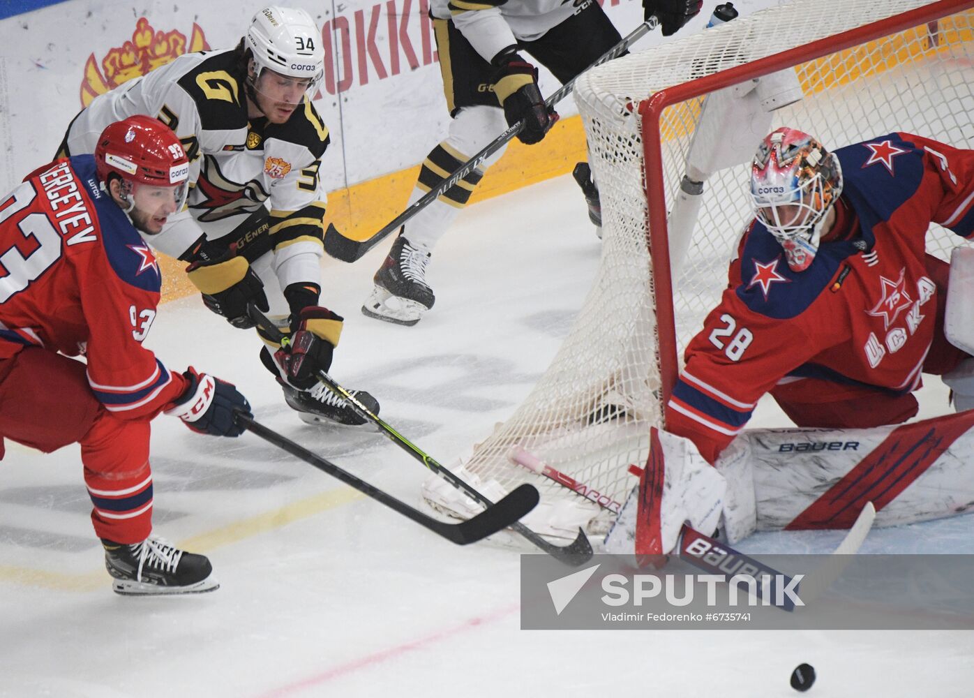
M256 64L256 78L265 68L310 82L308 92L318 89L324 76L321 32L311 15L300 8L266 7L259 10L244 36Z

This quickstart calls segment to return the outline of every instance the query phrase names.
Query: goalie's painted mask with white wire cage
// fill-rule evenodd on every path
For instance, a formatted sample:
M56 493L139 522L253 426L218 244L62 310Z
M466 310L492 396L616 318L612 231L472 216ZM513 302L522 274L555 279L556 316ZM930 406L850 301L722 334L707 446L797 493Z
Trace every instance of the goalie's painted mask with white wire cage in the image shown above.
M751 164L751 201L792 271L811 265L825 214L842 191L839 158L812 136L783 127L761 141Z

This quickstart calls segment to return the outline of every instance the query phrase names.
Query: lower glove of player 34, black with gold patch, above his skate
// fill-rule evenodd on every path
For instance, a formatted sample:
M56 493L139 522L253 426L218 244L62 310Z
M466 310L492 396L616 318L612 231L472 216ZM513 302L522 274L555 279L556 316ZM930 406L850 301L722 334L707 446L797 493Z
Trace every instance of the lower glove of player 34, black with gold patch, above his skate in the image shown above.
M318 371L331 368L331 358L342 334L344 318L318 305L304 308L291 335L274 354L281 377L295 388L308 390L318 383Z

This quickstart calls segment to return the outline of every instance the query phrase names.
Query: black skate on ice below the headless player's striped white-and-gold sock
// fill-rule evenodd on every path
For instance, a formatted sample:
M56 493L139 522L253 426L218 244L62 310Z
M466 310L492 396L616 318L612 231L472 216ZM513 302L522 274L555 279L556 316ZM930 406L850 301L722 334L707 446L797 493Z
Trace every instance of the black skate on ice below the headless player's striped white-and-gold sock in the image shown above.
M375 289L362 305L362 314L396 325L416 325L435 300L426 283L430 257L430 252L414 248L400 233L375 273Z

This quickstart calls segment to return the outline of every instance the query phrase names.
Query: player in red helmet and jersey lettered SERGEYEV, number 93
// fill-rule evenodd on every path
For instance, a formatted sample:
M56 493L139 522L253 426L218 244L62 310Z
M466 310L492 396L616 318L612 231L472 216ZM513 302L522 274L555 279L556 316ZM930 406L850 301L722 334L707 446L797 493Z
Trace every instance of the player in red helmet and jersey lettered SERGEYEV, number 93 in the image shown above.
M142 346L161 277L146 244L186 196L189 161L159 121L108 126L94 156L56 160L0 199L0 457L3 439L81 445L94 532L120 594L217 588L209 561L152 533L149 421L239 436L230 383L170 372ZM87 363L69 357L83 356Z

